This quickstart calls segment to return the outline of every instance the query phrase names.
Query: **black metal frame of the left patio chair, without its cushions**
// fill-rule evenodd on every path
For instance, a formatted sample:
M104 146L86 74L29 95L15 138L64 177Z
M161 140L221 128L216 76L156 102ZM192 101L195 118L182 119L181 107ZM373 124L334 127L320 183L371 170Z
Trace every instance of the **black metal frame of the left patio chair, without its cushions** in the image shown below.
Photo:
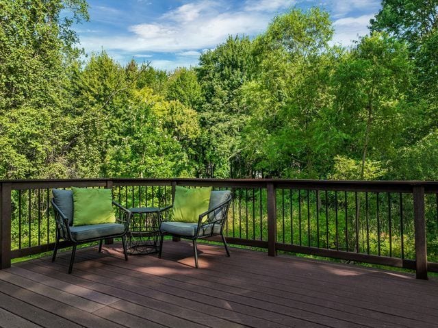
M103 236L103 237L99 237L99 238L89 238L86 240L75 240L75 238L73 238L73 235L71 234L70 225L68 225L68 218L66 218L65 214L62 213L62 211L60 210L60 207L57 207L57 205L55 204L55 201L53 201L53 199L51 199L51 204L53 206L53 212L55 212L55 221L56 221L56 241L55 241L55 247L53 249L52 262L55 261L57 247L59 246L60 239L64 239L66 241L73 243L73 248L72 248L71 256L70 256L70 264L68 266L68 273L72 273L73 263L75 262L76 247L78 244L85 244L86 242L94 242L94 241L99 240L100 241L99 242L99 253L101 253L103 240L110 239L110 238L122 238L123 253L125 255L125 260L127 261L128 254L127 254L127 249L126 249L126 234L127 234L128 229L129 229L129 222L131 220L132 214L131 214L131 212L129 212L129 210L127 210L122 205L116 203L115 201L113 201L112 203L113 203L113 205L116 205L116 207L118 207L120 209L120 211L123 212L123 214L124 214L122 216L122 218L116 217L116 223L120 223L120 224L125 225L125 230L123 231L123 233L122 234L107 235L107 236Z

